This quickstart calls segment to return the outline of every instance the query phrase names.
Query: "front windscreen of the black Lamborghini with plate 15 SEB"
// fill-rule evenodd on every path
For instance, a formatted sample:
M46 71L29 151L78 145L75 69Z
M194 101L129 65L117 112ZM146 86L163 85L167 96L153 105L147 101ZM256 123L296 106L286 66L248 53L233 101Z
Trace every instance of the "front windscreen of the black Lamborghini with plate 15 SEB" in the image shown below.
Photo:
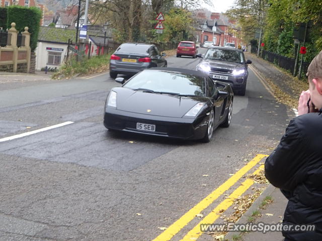
M133 76L124 87L154 92L205 96L204 77L172 71L144 70Z

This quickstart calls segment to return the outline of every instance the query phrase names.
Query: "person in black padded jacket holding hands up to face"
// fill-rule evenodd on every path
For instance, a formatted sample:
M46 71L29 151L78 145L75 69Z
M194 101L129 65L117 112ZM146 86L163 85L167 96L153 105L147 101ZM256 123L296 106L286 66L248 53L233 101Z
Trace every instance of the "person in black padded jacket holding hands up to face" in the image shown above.
M322 241L322 51L306 75L309 90L300 95L299 116L265 162L266 178L288 199L283 226L315 225L314 231L283 230L285 241Z

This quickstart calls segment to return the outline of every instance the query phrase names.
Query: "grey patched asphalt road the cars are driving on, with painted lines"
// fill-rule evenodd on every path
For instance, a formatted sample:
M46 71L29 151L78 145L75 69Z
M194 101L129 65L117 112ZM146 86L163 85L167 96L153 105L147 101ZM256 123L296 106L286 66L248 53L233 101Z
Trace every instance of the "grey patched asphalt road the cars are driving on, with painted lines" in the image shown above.
M168 57L169 67L198 62ZM213 240L194 233L195 212L227 207L289 119L250 67L232 124L208 144L110 133L104 102L118 85L108 73L1 82L0 240Z

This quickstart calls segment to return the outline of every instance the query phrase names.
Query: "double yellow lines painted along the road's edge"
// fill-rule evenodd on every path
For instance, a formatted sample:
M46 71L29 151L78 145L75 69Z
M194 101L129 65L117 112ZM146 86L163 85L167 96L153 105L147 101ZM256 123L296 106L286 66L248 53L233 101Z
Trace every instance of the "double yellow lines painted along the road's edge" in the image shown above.
M207 208L213 201L215 201L219 196L221 196L225 191L227 191L231 186L233 186L241 177L243 177L249 170L251 170L256 164L258 164L267 155L258 154L253 160L251 160L247 165L238 170L233 176L231 176L227 181L221 184L217 189L205 197L201 202L196 204L188 212L186 212L181 218L170 225L164 232L159 234L152 241L168 241L174 235L176 235L184 226L186 226L192 219L195 218L196 214L201 213L202 210ZM261 166L260 168L263 168ZM253 174L257 174L260 169L256 170ZM234 190L225 200L223 200L218 206L216 206L207 216L205 216L193 229L191 229L187 235L181 240L196 240L202 232L200 231L201 223L213 223L219 216L220 210L226 210L231 206L234 200L243 194L248 188L253 185L254 181L251 179L246 179L241 185Z

